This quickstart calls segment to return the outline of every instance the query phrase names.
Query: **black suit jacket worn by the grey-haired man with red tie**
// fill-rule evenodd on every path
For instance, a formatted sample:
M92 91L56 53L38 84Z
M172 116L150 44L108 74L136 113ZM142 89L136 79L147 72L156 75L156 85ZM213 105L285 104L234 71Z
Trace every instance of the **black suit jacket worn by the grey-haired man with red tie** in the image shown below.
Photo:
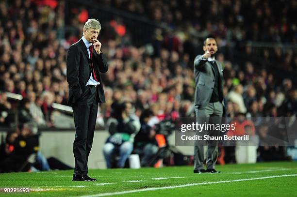
M93 46L92 46L93 47ZM108 65L104 54L96 53L93 48L93 66L99 80L99 102L105 103L103 84L100 73L106 73ZM82 95L82 87L86 85L91 76L91 62L86 46L82 39L71 45L67 52L67 82L69 84L68 105L73 105Z

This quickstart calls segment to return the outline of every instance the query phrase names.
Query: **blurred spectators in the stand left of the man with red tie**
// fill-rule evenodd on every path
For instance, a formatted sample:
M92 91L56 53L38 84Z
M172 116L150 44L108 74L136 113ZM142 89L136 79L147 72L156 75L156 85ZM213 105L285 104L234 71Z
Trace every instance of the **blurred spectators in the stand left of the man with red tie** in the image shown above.
M66 104L68 92L63 2L52 8L32 0L1 1L0 18L1 125L15 121L17 108L21 123L52 126L51 104ZM24 99L10 103L6 91Z

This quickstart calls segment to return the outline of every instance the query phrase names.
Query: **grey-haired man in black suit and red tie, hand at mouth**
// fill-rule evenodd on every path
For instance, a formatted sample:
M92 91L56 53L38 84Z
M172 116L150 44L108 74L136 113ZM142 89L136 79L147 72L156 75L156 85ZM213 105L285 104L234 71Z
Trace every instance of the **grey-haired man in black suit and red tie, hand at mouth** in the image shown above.
M76 131L73 181L96 181L87 175L87 163L93 144L98 103L105 103L100 73L106 73L108 65L97 40L100 30L98 20L88 19L82 38L71 45L67 53L68 104L73 109Z

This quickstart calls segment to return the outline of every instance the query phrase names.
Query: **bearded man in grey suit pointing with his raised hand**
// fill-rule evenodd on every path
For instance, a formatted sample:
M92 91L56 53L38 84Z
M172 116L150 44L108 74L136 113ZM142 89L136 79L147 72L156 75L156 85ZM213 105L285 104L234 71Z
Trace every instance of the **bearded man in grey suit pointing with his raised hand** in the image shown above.
M223 115L223 68L222 64L214 59L217 45L214 38L207 38L203 45L204 54L198 55L194 60L195 115L198 123L220 124ZM210 117L217 117L215 119ZM219 131L212 131L218 136ZM208 142L206 166L203 168L204 147L201 141L195 142L194 147L194 173L217 173L214 169L218 155L217 141Z

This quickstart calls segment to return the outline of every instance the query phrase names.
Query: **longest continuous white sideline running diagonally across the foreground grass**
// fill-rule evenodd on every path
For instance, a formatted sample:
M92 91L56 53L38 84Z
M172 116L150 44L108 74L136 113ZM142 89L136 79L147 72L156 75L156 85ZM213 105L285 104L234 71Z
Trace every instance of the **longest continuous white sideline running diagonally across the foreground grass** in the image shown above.
M174 188L179 188L179 187L188 187L188 186L195 186L195 185L206 185L206 184L217 184L217 183L228 183L228 182L242 182L242 181L252 181L252 180L259 180L259 179L271 179L271 178L279 178L279 177L296 177L296 176L297 176L297 174L284 174L284 175L279 175L279 176L258 177L258 178L250 178L250 179L237 179L237 180L227 180L227 181L218 181L218 182L199 182L199 183L189 183L189 184L185 184L185 185L151 187L151 188L129 190L129 191L122 191L122 192L94 194L94 195L81 196L81 197L104 197L104 196L136 193L136 192L155 191L155 190L161 190L161 189L174 189Z

